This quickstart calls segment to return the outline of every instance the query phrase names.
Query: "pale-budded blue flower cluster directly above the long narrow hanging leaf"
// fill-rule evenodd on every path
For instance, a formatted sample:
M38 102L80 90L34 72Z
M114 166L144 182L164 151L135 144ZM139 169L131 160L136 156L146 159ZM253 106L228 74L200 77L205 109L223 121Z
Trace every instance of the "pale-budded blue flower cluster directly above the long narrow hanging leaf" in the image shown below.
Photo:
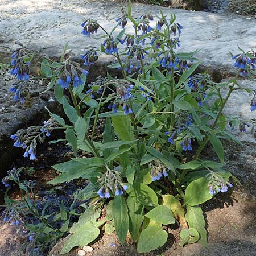
M118 171L107 170L104 175L98 180L100 189L98 195L101 198L110 198L111 196L121 196L128 188L123 184L122 177Z

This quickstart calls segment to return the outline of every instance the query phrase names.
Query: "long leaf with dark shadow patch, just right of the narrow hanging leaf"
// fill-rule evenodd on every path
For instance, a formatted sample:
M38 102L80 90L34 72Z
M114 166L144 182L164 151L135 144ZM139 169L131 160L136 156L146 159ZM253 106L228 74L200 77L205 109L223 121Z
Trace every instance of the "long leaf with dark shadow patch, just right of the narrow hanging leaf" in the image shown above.
M126 200L129 212L129 232L133 242L138 242L142 222L144 220L144 206L129 196Z

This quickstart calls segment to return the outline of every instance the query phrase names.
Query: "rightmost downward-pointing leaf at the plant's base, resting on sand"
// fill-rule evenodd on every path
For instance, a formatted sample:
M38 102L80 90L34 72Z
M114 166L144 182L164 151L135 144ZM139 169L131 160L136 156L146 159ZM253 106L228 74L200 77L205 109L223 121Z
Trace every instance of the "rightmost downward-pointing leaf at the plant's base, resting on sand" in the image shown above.
M207 231L205 230L205 220L202 209L198 206L192 207L187 205L187 213L185 217L186 220L188 221L189 228L194 228L199 232L199 243L204 247L208 247Z

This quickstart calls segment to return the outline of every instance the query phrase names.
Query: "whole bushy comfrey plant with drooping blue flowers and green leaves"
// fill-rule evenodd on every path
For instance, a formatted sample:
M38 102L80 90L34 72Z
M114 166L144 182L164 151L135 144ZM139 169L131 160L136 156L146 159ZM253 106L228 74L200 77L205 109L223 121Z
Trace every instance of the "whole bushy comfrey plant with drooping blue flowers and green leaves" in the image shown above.
M162 14L155 20L152 14L143 14L134 19L129 4L116 22L111 32L97 20L87 19L81 24L85 36L99 30L104 33L101 48L82 55L82 67L65 59L64 54L60 62L41 56L42 74L51 80L47 89L54 88L67 117L49 112L51 118L43 126L12 135L14 146L24 148L24 156L34 160L37 143L63 129L74 158L54 166L61 174L49 183L79 177L89 181L79 196L90 199L90 206L80 216L79 225L71 228L61 253L92 242L103 225L106 233L115 230L122 244L129 232L139 253L163 246L167 241L163 225L175 222L180 224L181 245L199 241L207 246L199 205L232 187L232 175L224 169L220 138L238 142L226 131L226 123L232 128L239 126L240 131L255 125L255 120L226 117L222 110L233 91L244 90L237 79L254 72L256 53L233 56L236 77L217 84L207 73L195 73L200 64L193 57L196 52L175 51L181 47L183 28L175 15ZM127 34L126 26L133 26L134 34ZM110 68L118 68L122 75L108 74L85 85L88 72L84 66L97 61L98 51L114 56L117 63ZM34 55L38 53L24 47L13 55L11 73L22 82L28 77L34 79L27 64ZM225 88L228 94L223 97L221 90ZM248 109L254 111L256 94L249 93ZM99 118L104 119L105 130L102 139L96 140ZM199 158L207 143L212 144L220 163ZM77 156L80 150L92 157ZM97 221L99 209L104 214Z

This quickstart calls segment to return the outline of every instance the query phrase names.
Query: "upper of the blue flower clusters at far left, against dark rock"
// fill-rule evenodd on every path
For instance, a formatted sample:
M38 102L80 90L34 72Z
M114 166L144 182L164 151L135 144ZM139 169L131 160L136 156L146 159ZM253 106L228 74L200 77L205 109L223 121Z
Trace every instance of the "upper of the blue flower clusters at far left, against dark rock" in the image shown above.
M23 47L21 43L18 42L22 48L18 48L14 51L13 55L11 55L11 75L17 75L18 80L28 81L30 79L29 66L30 61L32 59L32 54L28 53L26 48Z

